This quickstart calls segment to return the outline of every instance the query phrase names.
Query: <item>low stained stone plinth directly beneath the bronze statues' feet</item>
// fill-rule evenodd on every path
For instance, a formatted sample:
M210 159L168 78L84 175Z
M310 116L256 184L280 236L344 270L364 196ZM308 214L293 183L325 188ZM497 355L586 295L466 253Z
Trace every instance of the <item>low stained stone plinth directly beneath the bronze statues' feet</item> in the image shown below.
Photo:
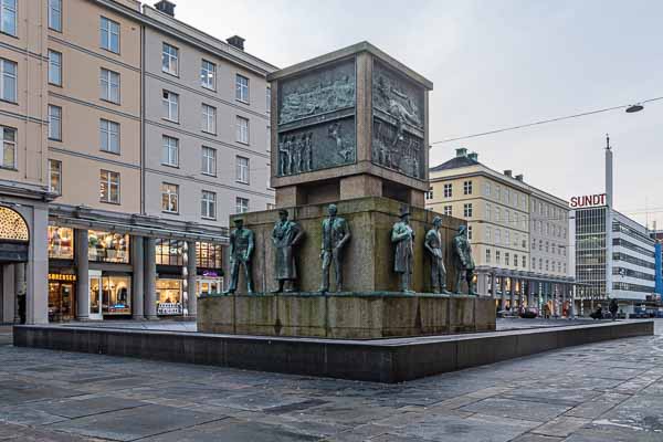
M198 332L375 339L495 330L488 297L403 293L201 296Z

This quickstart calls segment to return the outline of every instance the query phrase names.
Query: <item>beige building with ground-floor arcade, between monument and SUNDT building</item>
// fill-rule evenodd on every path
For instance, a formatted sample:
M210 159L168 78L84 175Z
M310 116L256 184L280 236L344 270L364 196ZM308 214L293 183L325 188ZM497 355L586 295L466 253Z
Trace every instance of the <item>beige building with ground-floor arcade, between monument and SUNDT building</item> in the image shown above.
M464 148L430 169L425 198L428 209L467 221L481 294L498 297L502 309L549 303L552 313L561 313L571 290L564 200L527 185L523 175L486 167ZM539 242L547 248L539 251Z

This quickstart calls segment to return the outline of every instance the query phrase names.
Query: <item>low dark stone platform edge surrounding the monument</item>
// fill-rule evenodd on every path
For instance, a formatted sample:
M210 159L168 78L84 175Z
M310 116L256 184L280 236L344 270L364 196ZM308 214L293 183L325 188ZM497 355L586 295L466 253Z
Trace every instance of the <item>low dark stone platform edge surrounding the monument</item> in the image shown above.
M339 340L22 325L18 347L401 382L556 348L654 334L653 320L398 339Z

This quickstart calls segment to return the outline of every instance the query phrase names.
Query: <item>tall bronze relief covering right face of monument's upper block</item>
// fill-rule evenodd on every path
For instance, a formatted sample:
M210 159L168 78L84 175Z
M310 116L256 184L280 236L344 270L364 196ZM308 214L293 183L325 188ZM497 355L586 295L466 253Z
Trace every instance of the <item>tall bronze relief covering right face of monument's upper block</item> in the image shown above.
M423 88L373 64L372 161L412 178L424 177Z

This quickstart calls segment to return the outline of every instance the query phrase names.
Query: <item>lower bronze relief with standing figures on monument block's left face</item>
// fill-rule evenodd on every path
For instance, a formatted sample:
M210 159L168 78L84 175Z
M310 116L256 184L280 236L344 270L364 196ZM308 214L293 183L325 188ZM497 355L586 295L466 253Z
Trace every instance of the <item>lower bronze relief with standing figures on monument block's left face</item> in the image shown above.
M278 176L355 162L355 118L344 118L278 134Z

